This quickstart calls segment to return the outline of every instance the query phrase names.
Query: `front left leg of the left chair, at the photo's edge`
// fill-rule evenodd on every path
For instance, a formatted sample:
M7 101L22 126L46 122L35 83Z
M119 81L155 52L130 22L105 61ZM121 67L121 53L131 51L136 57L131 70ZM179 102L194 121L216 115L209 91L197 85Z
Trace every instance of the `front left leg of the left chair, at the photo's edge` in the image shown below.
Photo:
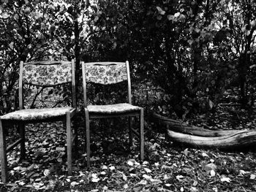
M0 157L1 157L1 180L3 183L8 182L7 174L7 149L5 143L4 128L0 120Z

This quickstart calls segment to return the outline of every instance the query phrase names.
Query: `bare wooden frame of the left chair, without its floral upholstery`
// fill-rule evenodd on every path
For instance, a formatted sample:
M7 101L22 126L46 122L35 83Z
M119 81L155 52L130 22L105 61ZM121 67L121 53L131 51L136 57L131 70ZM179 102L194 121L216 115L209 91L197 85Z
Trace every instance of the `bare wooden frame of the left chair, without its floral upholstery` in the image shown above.
M64 64L71 62L72 70L72 110L66 112L66 115L62 115L56 118L47 118L45 120L1 120L0 118L0 155L1 155L1 178L4 183L8 182L8 168L7 168L7 152L12 150L14 147L20 144L20 160L25 158L26 149L25 149L25 124L26 123L42 123L42 122L54 122L54 121L64 121L66 122L66 132L67 132L67 169L68 174L72 174L72 143L75 141L75 145L78 144L78 135L75 128L75 137L72 138L72 128L71 128L71 119L75 116L76 113L76 97L75 97L75 61L36 61L36 62L27 62L24 63L20 61L20 77L19 77L19 86L18 86L18 95L19 95L19 110L23 110L23 66L26 64ZM66 82L65 82L66 83ZM41 85L44 87L43 85ZM49 85L48 87L53 87L54 85ZM12 143L7 147L6 145L6 135L4 133L3 124L11 123L18 124L20 139Z

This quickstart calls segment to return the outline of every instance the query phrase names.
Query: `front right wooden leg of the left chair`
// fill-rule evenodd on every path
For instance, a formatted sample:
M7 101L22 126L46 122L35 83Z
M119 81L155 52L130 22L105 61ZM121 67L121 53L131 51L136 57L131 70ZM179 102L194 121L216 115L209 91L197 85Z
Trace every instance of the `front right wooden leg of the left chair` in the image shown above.
M70 112L66 113L66 128L67 128L67 172L72 174L72 129Z

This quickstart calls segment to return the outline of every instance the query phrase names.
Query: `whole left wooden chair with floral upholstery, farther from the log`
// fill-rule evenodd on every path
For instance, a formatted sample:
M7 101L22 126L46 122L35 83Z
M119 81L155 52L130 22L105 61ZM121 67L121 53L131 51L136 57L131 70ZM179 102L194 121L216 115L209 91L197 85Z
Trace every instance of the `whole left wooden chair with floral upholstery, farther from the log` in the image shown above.
M53 107L36 109L24 109L23 102L24 86L37 88L53 88L56 86L70 85L72 92L72 107ZM66 86L67 87L67 86ZM0 116L0 156L1 156L1 178L4 183L8 181L7 175L7 152L20 144L20 159L25 158L25 124L64 121L67 129L67 169L72 174L72 129L71 119L76 112L75 100L75 63L72 61L37 61L30 63L20 62L19 77L19 110ZM70 95L70 94L69 94ZM35 101L35 100L34 100ZM34 102L33 102L34 104ZM34 106L32 106L34 107ZM43 108L42 108L43 107ZM20 139L9 147L6 146L6 123L17 123ZM75 130L75 133L77 131ZM74 137L75 138L75 137ZM74 139L73 138L73 139ZM76 137L77 138L77 137ZM77 139L75 140L77 142Z

